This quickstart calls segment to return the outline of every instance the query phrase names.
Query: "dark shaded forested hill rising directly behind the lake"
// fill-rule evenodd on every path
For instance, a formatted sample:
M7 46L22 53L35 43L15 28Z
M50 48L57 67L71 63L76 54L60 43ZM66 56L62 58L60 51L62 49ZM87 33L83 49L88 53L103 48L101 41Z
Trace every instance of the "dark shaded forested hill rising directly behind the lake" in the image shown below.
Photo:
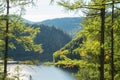
M15 50L10 50L9 57L14 60L39 59L40 61L52 61L53 52L59 50L71 40L69 35L55 27L49 27L42 24L33 24L33 26L40 27L41 32L37 35L34 41L35 43L42 44L44 52L41 54L25 52L20 45L17 45Z

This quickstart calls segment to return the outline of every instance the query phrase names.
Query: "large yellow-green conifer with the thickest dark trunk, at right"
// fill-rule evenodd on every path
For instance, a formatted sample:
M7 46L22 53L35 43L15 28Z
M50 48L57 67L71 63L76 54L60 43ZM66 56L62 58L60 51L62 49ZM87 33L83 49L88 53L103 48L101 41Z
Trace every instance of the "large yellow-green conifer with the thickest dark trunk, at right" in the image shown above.
M88 76L86 75L86 78L85 78L85 75L82 75L86 71L85 70L83 71L83 73L81 72L79 73L81 75L81 76L79 75L80 77L83 76L82 78L90 80L90 79L98 79L98 75L99 75L100 80L118 79L119 72L116 73L117 78L113 77L115 75L114 63L116 63L115 62L116 59L114 60L114 56L116 57L118 55L118 54L114 54L113 50L116 51L117 47L113 48L113 46L114 45L119 46L119 44L114 44L114 42L118 39L117 38L118 32L116 33L114 32L114 35L116 35L116 37L115 36L113 37L113 29L116 31L115 26L116 27L118 26L117 24L119 23L117 22L119 22L119 20L117 18L114 19L116 22L114 23L113 18L115 18L115 16L113 17L113 13L114 13L114 5L119 3L120 2L118 0L116 1L112 1L112 0L109 0L109 1L94 0L93 1L92 0L88 3L85 3L84 1L80 1L80 0L74 1L73 3L70 1L63 1L63 0L58 2L59 5L62 5L67 10L84 9L86 10L84 12L87 13L86 19L83 20L84 22L82 24L84 30L81 31L78 35L81 37L85 37L85 40L83 41L80 47L75 49L75 51L80 53L80 56L82 56L82 60L84 60L85 62L87 61L87 63L85 64L87 70L89 70L88 68L90 68L90 67L87 67L88 64L91 64L91 65L95 64L94 66L96 66L97 71L100 69L99 70L100 74L91 75L92 73L86 72L86 74L90 73L92 77L93 76L95 77L96 75L97 77L92 78L88 74ZM119 6L116 6L116 7L119 7ZM112 9L112 12L110 11L110 9ZM117 9L116 9L116 13L117 15L119 15L119 12ZM110 17L111 16L110 14L112 14L112 18ZM112 19L112 22L111 22L111 19ZM59 54L59 53L56 53L56 54ZM118 53L118 51L116 53ZM99 64L100 68L97 66L97 64ZM79 63L79 65L83 65L83 64ZM95 68L94 66L91 66L93 67L91 72L94 72L94 68ZM110 66L111 66L111 69L110 69ZM83 70L84 67L80 67L80 69ZM111 70L111 73L109 72L110 70ZM110 74L111 74L111 77L110 77ZM82 78L80 78L80 80Z

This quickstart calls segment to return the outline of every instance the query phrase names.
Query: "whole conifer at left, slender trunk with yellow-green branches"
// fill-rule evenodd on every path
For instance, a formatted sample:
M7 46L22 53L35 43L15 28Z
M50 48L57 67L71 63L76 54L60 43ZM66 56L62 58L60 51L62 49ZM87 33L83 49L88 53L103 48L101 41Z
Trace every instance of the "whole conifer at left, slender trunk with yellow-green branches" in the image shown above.
M17 14L10 15L10 8L20 6L24 10L25 5L33 3L33 0L3 0L1 1L1 44L2 50L4 50L4 75L3 80L7 78L7 59L9 48L15 48L14 43L22 44L27 51L42 52L41 44L35 44L34 38L39 32L39 28L26 27ZM4 11L6 10L6 15ZM20 12L21 15L21 12ZM15 41L15 42L11 42ZM1 51L2 52L2 51Z

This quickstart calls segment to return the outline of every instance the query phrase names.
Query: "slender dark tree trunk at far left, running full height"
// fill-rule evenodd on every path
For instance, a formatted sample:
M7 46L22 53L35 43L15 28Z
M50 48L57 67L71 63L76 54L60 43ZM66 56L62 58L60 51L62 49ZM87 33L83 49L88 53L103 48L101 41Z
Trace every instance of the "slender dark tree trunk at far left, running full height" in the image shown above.
M6 35L5 35L5 53L4 53L4 76L3 76L3 80L6 80L7 77L7 58L8 58L8 26L9 26L9 0L6 0L7 3L7 13L6 13Z

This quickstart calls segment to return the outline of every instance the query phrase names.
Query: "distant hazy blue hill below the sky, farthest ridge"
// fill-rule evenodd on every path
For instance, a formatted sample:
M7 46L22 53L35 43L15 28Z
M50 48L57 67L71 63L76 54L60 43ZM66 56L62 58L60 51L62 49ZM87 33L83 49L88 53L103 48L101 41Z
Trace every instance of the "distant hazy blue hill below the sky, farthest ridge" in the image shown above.
M80 17L66 17L66 18L56 18L56 19L45 20L37 23L42 23L49 26L55 26L67 32L69 35L73 36L77 31L82 29L80 27L81 21L82 21L82 18Z

